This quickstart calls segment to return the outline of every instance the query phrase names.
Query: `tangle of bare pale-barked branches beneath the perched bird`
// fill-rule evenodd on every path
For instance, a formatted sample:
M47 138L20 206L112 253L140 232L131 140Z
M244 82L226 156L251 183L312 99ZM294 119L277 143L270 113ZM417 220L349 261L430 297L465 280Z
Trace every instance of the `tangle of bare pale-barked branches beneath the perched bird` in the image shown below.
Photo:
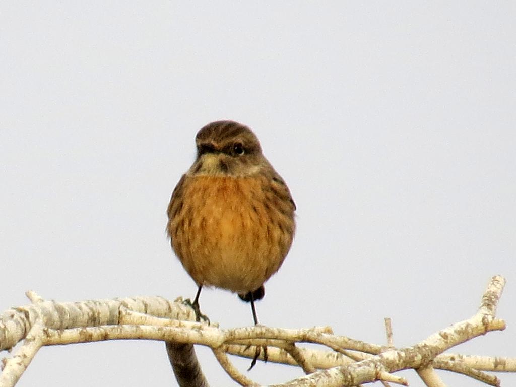
M271 362L301 366L307 376L278 386L357 386L382 380L407 384L392 373L413 368L431 387L444 385L434 369L461 373L490 385L499 380L485 371L516 372L516 359L445 354L447 349L491 330L503 330L505 322L495 312L505 280L495 276L482 296L477 313L457 322L412 347L393 348L392 328L386 325L388 347L334 335L329 327L280 329L264 326L220 329L215 324L192 321L195 313L182 300L136 297L59 303L35 292L33 302L0 316L0 349L23 344L7 359L0 387L10 387L23 374L44 345L101 340L142 339L167 343L167 353L181 386L207 387L193 344L211 347L221 366L241 385L256 385L241 374L226 353L252 358L255 346L268 347ZM303 348L320 344L331 350ZM386 385L386 384L384 384Z

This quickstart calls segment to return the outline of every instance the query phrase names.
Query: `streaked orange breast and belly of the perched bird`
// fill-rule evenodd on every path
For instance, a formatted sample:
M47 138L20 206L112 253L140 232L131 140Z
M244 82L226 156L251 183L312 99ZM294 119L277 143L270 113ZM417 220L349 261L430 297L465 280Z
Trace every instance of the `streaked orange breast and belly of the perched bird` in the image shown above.
M294 205L286 187L271 189L275 183L264 176L185 176L180 184L168 232L198 285L247 293L279 269L294 235Z

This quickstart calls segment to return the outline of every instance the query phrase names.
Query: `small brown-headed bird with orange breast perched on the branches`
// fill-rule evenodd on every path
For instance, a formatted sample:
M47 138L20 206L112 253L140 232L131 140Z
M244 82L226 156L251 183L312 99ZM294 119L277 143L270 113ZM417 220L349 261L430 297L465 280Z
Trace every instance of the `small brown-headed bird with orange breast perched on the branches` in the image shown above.
M247 126L209 123L196 144L197 158L168 205L172 249L199 287L192 303L198 321L201 289L215 286L250 302L258 324L254 301L291 248L296 204ZM257 356L259 349L251 367Z

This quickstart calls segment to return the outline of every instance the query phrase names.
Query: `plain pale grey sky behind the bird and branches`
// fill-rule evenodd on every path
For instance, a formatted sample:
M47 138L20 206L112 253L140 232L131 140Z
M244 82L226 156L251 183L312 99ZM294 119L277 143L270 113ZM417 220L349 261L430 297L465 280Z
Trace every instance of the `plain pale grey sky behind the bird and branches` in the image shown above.
M514 2L0 3L0 310L27 289L195 296L165 211L199 128L233 119L298 206L263 324L383 344L390 316L407 346L470 317L499 273L507 330L453 351L516 357L514 20ZM229 292L201 308L252 322ZM198 354L212 385L231 383ZM163 343L108 342L43 348L18 385L70 383L175 380Z

